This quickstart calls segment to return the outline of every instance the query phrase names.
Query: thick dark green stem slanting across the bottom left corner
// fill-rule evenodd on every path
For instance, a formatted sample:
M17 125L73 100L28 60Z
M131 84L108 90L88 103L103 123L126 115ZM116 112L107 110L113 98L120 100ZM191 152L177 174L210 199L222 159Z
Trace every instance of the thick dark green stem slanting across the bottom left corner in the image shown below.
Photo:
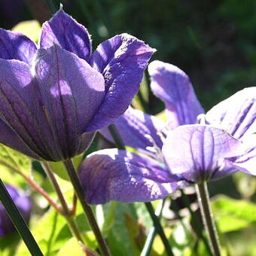
M20 233L23 241L25 242L27 248L30 251L32 256L44 256L38 247L38 244L35 242L32 233L29 230L29 227L26 225L23 217L20 215L19 210L14 204L14 201L11 199L11 196L8 193L8 190L5 188L5 184L0 178L0 201L5 206L6 212L8 212L11 221L16 227L17 231Z

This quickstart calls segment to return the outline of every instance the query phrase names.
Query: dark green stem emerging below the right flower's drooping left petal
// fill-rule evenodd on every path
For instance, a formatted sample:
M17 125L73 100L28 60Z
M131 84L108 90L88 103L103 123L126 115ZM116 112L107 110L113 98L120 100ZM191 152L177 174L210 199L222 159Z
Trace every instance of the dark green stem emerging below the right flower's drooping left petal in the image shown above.
M172 252L171 245L169 245L168 239L166 238L166 234L163 231L163 227L160 224L159 218L154 213L154 208L151 203L146 202L145 206L148 209L149 214L151 215L151 219L154 222L154 227L156 227L157 233L159 234L160 238L162 239L163 245L166 248L166 254L169 256L174 256Z

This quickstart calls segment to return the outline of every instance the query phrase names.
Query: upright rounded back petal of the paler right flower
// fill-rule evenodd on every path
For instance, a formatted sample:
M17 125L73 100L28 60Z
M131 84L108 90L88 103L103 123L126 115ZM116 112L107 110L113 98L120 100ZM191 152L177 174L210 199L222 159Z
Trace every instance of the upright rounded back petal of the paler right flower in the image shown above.
M149 64L148 72L151 90L166 104L170 128L196 123L204 111L187 75L178 67L157 60Z

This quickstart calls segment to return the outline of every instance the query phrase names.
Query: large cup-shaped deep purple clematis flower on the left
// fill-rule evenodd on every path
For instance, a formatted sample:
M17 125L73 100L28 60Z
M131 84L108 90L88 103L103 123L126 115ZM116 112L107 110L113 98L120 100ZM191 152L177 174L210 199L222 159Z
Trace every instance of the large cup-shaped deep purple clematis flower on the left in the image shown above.
M62 10L44 23L39 44L0 29L0 142L66 160L126 111L154 49L121 34L92 53L87 29Z

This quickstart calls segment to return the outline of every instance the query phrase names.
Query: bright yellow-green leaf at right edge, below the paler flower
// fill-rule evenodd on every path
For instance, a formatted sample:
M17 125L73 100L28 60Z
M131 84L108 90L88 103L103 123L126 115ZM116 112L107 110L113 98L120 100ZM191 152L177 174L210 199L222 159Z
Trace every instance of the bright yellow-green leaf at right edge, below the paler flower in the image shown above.
M221 232L247 227L256 221L256 204L221 195L212 203L212 210Z

